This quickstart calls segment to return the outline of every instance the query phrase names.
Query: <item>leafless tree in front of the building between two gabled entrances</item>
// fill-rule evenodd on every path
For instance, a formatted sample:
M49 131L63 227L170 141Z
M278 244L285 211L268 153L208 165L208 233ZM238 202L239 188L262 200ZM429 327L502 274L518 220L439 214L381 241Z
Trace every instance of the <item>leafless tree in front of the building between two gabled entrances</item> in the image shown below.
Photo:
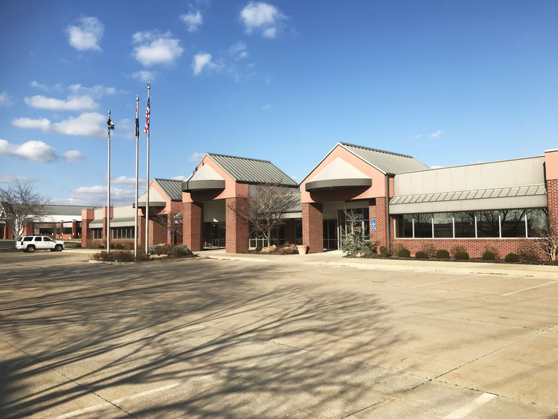
M271 232L283 224L285 213L300 202L300 195L290 187L265 183L253 187L248 196L248 213L229 207L238 217L244 219L263 239L270 244Z

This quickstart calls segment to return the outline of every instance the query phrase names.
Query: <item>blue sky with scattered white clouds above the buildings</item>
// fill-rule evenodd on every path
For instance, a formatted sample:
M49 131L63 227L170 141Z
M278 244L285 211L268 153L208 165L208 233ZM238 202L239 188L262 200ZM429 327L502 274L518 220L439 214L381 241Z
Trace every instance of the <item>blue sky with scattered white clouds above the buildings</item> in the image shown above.
M344 141L429 166L557 148L558 2L2 1L0 187L134 200L206 152L302 180ZM146 135L139 136L141 194ZM106 204L105 204L106 205Z

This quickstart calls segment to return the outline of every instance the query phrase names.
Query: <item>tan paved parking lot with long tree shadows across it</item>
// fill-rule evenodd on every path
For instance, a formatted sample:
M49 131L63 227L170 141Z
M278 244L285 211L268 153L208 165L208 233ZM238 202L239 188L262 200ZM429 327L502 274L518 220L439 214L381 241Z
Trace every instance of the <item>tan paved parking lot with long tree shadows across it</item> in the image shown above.
M0 417L558 418L555 277L0 252Z

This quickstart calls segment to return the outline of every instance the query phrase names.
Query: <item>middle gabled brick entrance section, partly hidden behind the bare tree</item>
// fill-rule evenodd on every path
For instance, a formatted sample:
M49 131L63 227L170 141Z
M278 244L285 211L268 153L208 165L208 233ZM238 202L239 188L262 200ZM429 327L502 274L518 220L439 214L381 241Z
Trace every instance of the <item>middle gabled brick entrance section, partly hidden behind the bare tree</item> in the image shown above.
M265 184L284 187L294 197L295 205L275 239L295 243L300 219L298 183L267 160L207 153L182 182L184 244L194 251L226 247L231 253L247 252L250 244L256 247L258 237L251 234L246 219L248 197L257 193L257 185Z

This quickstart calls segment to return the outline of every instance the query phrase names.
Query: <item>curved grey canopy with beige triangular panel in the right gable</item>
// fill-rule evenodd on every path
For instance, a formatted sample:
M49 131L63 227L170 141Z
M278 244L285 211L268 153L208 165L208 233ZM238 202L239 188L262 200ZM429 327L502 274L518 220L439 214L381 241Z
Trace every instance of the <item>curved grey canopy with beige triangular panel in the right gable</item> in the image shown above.
M309 182L306 182L306 190L309 192L320 189L359 186L372 186L372 179L341 157L337 157L324 170L312 177Z

